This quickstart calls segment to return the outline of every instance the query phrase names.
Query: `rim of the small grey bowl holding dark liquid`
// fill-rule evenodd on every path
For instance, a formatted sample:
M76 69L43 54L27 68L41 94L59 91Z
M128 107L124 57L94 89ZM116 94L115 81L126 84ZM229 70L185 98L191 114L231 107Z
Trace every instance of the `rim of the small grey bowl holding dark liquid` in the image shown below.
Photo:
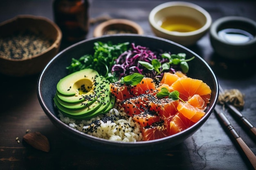
M222 18L218 18L216 21L213 22L213 24L211 25L211 28L210 28L211 37L214 38L215 40L217 40L218 42L220 42L221 44L226 44L226 45L234 46L234 47L250 46L252 44L256 44L256 35L254 35L254 38L252 40L249 40L248 42L242 42L242 43L231 43L231 42L227 42L227 41L223 40L222 38L220 38L217 33L218 28L220 26L222 26L223 24L226 24L229 22L247 23L249 25L252 25L256 30L256 22L254 20L251 20L249 18L245 18L242 16L225 16Z

